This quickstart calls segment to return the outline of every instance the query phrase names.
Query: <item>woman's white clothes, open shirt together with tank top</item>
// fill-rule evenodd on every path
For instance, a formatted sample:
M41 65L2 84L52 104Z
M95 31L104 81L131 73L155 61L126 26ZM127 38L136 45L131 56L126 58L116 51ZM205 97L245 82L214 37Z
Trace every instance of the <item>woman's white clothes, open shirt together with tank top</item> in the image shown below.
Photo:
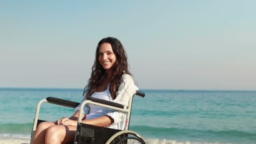
M131 99L133 94L135 94L136 91L138 90L139 88L136 85L134 85L133 78L131 77L131 75L124 74L123 81L121 80L120 86L116 93L116 98L114 100L112 99L111 94L109 93L109 85L106 91L94 92L91 96L94 98L104 99L107 101L122 104L126 109L128 106L129 99ZM86 97L83 96L81 103L85 100ZM79 109L80 104L76 107L75 111L78 111ZM124 130L125 128L125 112L119 112L117 110L100 107L93 104L86 104L83 108L83 113L86 115L85 119L92 119L96 117L101 117L103 115L108 115L109 117L112 117L114 123L112 123L111 125L107 125L105 127L119 130Z

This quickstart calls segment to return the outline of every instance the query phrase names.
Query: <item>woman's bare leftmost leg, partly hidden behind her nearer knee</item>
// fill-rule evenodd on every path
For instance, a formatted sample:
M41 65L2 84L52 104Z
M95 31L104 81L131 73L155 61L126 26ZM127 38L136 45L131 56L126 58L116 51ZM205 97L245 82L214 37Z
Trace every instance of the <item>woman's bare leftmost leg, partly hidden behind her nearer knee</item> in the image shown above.
M45 132L49 126L56 125L53 122L43 122L37 126L32 144L45 144Z

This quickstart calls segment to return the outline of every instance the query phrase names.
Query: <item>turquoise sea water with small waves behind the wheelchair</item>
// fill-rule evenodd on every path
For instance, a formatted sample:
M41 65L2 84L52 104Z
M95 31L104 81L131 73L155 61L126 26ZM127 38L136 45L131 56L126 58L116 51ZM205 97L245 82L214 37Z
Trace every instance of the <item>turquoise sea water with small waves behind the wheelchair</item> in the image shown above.
M256 91L140 90L130 130L154 141L256 144ZM80 102L82 89L0 88L0 139L28 138L37 102L48 96ZM55 121L74 109L42 104L39 118Z

